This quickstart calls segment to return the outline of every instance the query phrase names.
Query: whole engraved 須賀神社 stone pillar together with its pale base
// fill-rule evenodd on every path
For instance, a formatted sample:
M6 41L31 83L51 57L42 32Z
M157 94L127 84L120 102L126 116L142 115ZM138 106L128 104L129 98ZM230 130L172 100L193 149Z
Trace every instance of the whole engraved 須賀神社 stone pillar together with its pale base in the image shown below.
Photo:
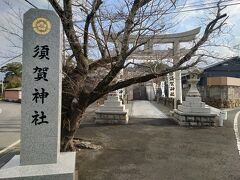
M55 12L24 14L21 149L0 179L73 180L75 152L60 153L61 23Z

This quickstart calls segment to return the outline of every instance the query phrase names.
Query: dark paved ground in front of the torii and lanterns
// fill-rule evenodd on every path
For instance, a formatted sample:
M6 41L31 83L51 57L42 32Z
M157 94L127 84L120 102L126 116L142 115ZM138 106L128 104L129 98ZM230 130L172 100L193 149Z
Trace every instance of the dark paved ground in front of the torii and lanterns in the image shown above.
M91 115L94 113L83 122L77 137L101 144L103 149L78 153L81 180L240 179L231 120L221 128L184 128L170 119L156 118L131 118L128 125L100 126Z

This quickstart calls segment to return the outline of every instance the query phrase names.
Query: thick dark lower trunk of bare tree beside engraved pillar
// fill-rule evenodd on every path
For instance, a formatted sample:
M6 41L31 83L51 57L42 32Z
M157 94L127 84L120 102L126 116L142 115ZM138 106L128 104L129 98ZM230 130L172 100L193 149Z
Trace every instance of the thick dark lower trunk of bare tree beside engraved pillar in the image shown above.
M87 108L88 96L84 93L84 77L73 72L63 79L61 151L73 151L73 137Z

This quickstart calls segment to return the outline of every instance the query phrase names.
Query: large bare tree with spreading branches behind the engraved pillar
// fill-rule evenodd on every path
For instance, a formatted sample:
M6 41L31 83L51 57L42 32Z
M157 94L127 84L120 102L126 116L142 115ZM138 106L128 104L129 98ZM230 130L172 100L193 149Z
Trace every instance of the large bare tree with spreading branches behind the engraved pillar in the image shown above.
M196 65L202 54L197 50L211 36L219 33L228 16L217 4L216 14L205 27L203 35L189 52L171 67L153 68L142 75L116 81L118 73L127 68L130 55L147 44L155 35L172 26L171 14L177 1L171 0L49 0L63 25L67 58L64 61L62 94L61 150L72 150L72 140L86 108L111 91L146 82L167 73ZM76 19L82 18L80 21ZM142 38L144 37L147 38ZM135 43L129 47L134 36ZM109 44L109 40L113 42ZM191 61L190 61L191 60Z

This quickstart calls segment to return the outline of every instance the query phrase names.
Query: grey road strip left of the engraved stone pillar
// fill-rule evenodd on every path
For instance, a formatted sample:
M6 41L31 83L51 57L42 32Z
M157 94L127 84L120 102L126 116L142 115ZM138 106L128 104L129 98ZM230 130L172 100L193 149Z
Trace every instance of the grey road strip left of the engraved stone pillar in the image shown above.
M0 101L0 150L20 138L21 104Z

